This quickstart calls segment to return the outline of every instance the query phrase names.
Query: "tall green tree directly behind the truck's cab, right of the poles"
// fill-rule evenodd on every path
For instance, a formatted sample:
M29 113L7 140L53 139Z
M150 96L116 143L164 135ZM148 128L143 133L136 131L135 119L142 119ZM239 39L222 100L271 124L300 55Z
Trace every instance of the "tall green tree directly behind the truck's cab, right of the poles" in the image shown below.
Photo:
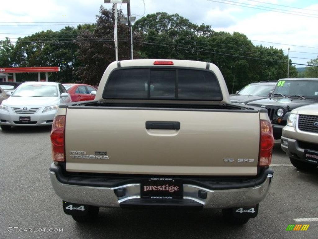
M178 14L166 12L142 17L134 24L134 32L143 38L140 55L144 58L188 60L201 59L190 45L194 44L194 48L204 46L214 33L209 25L193 24Z

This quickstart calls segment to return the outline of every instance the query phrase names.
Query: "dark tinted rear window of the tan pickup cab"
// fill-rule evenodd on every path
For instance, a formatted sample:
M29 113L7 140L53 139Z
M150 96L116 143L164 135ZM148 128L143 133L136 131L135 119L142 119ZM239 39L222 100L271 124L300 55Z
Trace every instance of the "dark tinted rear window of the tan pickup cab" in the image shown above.
M221 101L217 77L197 69L118 69L107 80L103 98Z

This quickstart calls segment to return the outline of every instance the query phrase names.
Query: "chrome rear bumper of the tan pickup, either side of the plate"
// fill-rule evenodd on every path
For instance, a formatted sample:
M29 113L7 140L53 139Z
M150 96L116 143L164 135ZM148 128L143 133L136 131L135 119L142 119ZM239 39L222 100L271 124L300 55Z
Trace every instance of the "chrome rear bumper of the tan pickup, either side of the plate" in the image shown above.
M191 184L183 184L183 199L193 201L203 208L230 208L256 205L262 201L269 190L273 174L268 174L259 185L239 189L210 190ZM126 184L117 187L97 187L70 185L59 182L54 171L50 170L52 186L63 200L72 203L101 207L120 207L121 203L140 199L140 184ZM125 196L117 197L115 191L125 189ZM206 199L198 197L199 190L207 192ZM155 206L155 203L154 203ZM182 203L181 205L182 206Z

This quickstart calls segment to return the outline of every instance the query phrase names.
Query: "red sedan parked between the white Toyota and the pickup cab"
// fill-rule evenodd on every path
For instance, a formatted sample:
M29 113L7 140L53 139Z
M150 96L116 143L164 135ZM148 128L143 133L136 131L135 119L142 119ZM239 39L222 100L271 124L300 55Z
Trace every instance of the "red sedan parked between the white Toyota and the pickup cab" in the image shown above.
M95 87L86 84L63 84L66 91L71 95L72 102L94 100L92 91L97 91Z

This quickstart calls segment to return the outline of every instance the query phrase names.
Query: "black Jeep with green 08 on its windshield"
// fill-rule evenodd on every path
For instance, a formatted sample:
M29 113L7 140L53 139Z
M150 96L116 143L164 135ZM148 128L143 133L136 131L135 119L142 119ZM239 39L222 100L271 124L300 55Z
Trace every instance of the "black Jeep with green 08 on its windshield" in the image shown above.
M270 98L255 100L247 105L266 108L272 121L274 138L280 139L289 112L294 108L318 101L318 78L280 79Z

